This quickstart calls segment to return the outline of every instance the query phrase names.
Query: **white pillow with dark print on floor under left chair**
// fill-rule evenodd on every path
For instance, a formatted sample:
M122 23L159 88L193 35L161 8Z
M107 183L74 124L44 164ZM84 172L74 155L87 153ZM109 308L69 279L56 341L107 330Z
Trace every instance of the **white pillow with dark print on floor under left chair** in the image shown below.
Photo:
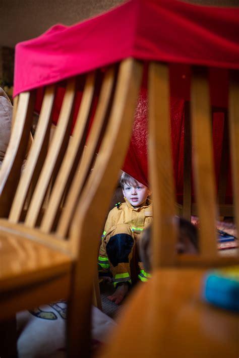
M33 311L17 313L19 358L62 356L66 330L65 302L44 305ZM104 342L116 323L98 308L92 307L92 339Z

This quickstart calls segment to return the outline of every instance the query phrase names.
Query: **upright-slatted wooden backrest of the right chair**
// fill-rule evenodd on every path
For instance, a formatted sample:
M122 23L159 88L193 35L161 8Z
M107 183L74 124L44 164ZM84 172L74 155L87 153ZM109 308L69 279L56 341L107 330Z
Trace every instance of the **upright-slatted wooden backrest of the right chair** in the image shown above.
M236 80L237 78L237 80ZM231 76L229 85L230 150L234 189L235 219L238 225L238 77ZM169 70L167 65L149 65L149 168L153 192L154 268L159 266L206 265L215 266L238 262L221 257L217 250L216 219L218 215L215 173L213 168L212 122L209 83L206 68L193 68L189 119L192 127L193 172L196 203L200 221L199 254L175 254L177 227L175 218L175 187L173 181L170 118ZM159 102L160 98L160 102ZM190 135L190 133L189 133ZM191 162L191 151L185 152L185 162ZM187 175L186 173L185 175ZM189 181L190 182L190 181ZM191 188L190 188L191 195ZM238 226L237 226L238 227ZM234 261L233 261L234 260Z

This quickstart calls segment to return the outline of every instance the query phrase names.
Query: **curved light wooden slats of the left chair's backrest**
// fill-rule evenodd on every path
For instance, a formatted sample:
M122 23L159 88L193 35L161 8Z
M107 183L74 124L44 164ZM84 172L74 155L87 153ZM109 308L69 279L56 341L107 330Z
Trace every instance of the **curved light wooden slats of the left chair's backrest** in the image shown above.
M24 170L21 167L32 124L36 91L19 95L12 136L1 170L1 217L8 217L12 223L21 221L28 227L40 226L46 233L54 227L59 236L66 237L76 203L94 167L96 153L107 129L118 76L115 66L107 69L103 76L98 71L68 80L51 143L48 142L56 86L47 86L34 143ZM83 85L76 124L70 136L77 96ZM96 96L99 97L97 103ZM92 117L94 120L88 134ZM44 206L49 190L48 202ZM66 210L59 215L63 202Z

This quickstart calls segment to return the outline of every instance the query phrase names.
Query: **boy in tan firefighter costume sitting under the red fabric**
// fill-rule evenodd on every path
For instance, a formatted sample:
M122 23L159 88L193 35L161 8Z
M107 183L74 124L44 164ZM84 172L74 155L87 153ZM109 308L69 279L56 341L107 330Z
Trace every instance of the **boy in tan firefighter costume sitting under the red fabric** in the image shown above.
M99 251L99 276L113 281L115 292L107 298L120 304L137 280L146 281L148 273L139 260L137 246L143 229L152 222L149 188L123 172L121 186L125 203L117 203L107 217ZM109 276L109 271L112 279ZM108 276L107 276L108 275Z

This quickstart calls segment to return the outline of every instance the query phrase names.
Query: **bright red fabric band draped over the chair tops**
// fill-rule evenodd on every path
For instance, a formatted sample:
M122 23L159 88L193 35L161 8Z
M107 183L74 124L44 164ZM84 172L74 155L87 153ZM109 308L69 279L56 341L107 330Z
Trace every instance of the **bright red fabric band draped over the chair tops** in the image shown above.
M130 0L100 16L56 25L16 46L14 95L132 56L239 68L239 8Z

